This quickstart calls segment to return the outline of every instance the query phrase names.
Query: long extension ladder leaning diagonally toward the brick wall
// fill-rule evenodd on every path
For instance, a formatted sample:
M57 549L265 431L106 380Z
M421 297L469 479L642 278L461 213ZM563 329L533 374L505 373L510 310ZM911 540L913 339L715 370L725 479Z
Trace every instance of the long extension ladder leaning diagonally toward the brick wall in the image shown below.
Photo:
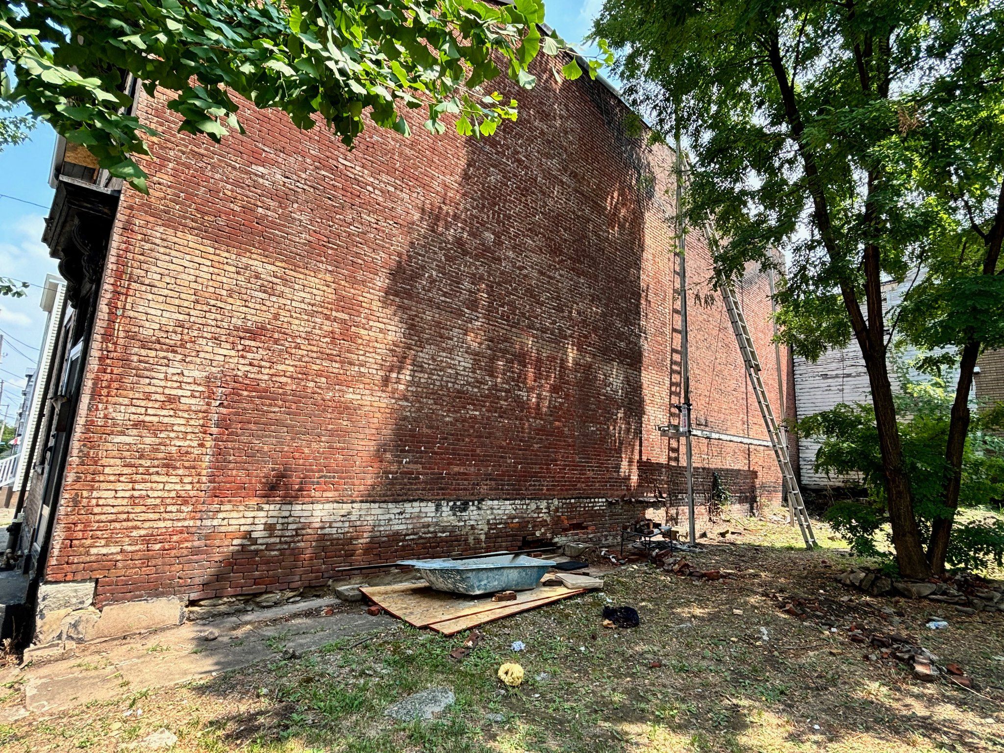
M704 233L708 243L717 250L718 237L715 235L711 220L704 222ZM781 432L774 418L774 412L770 408L770 401L767 400L767 391L763 386L763 379L760 376L760 360L756 355L756 346L753 338L750 337L749 327L746 326L746 317L743 316L743 309L739 303L732 284L723 276L718 276L718 287L722 291L722 300L725 303L725 311L729 315L732 323L732 331L736 335L736 342L739 344L739 352L743 356L743 363L746 366L746 375L749 376L753 394L756 395L757 405L760 407L760 415L763 417L763 424L767 428L767 436L770 438L770 445L774 448L774 456L777 458L777 465L781 469L781 480L783 489L788 497L788 506L791 514L798 523L802 532L802 539L805 541L806 549L816 547L815 534L812 532L812 523L809 520L808 512L805 509L805 501L802 493L798 489L798 479L791 468L791 458L788 456L788 444L784 441L784 434ZM780 379L780 374L778 374Z

